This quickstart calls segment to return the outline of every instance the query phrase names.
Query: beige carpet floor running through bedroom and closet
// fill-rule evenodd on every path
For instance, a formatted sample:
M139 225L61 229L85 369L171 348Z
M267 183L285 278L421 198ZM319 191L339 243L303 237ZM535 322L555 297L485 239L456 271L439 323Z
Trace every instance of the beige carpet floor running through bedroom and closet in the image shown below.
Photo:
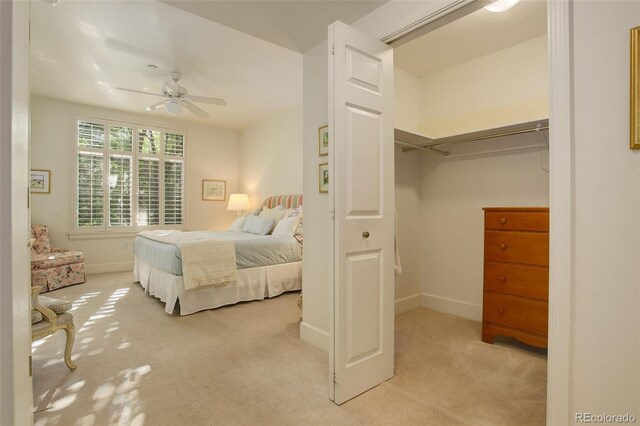
M33 344L35 424L543 425L546 353L424 308L396 317L395 377L336 406L328 357L299 340L298 293L185 317L131 283L91 275L64 333Z

